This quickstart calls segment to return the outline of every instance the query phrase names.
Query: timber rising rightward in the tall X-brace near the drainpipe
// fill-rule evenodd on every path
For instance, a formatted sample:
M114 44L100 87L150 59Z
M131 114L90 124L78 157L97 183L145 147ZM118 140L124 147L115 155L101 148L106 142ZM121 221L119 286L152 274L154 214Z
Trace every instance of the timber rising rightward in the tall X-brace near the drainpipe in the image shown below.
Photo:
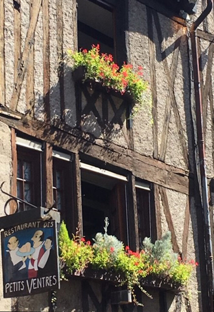
M180 32L178 32L178 34L179 33ZM170 68L170 77L171 77L173 86L174 86L175 76L176 76L176 72L177 72L178 54L180 51L180 42L181 42L181 37L178 37L178 40L175 43L174 52L173 52L173 59L172 59L172 64L171 64L171 68ZM166 98L164 123L163 123L160 152L159 152L159 160L162 160L162 161L165 160L165 155L166 155L170 115L171 115L171 100L170 100L170 96L168 94L167 98Z

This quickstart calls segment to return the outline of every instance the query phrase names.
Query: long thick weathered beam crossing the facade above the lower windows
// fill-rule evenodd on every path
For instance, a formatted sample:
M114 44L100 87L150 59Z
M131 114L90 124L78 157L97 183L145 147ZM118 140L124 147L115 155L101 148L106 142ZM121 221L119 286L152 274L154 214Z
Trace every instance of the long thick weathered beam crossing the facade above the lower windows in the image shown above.
M27 116L23 116L21 120L0 116L0 121L70 152L78 153L80 151L96 158L99 155L101 161L129 170L138 178L181 193L189 193L188 171L183 169L167 165L117 144L95 139L93 136L67 125L58 124L58 128L56 128Z

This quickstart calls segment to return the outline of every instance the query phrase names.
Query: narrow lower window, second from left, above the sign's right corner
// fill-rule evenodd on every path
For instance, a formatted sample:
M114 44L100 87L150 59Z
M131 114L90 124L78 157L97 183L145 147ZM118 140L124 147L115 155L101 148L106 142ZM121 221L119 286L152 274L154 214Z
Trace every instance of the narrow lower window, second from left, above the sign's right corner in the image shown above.
M55 207L60 211L61 221L69 217L72 206L71 163L53 157L53 196ZM67 212L67 213L66 213Z

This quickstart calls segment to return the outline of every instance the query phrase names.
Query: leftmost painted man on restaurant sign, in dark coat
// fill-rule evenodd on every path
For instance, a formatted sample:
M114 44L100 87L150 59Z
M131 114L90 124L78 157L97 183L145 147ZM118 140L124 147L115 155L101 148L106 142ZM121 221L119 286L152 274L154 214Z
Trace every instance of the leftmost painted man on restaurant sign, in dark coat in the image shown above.
M5 264L7 268L7 281L21 280L26 278L26 258L17 255L19 240L16 236L12 236L8 240L8 250L6 250L7 255L5 259Z

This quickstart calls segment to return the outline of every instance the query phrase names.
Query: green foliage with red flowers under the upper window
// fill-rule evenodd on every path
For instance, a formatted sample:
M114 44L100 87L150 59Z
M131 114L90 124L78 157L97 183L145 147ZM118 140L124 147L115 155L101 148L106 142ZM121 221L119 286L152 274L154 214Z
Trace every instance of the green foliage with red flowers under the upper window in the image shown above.
M123 64L121 69L113 62L113 56L102 53L99 54L99 45L92 46L87 51L84 49L80 52L67 51L68 62L74 61L74 68L85 66L85 79L94 79L101 82L102 85L114 89L123 95L125 92L132 95L133 100L142 105L148 104L148 98L145 98L145 91L148 89L148 82L142 79L143 68L138 67L137 71L133 70L131 64Z

